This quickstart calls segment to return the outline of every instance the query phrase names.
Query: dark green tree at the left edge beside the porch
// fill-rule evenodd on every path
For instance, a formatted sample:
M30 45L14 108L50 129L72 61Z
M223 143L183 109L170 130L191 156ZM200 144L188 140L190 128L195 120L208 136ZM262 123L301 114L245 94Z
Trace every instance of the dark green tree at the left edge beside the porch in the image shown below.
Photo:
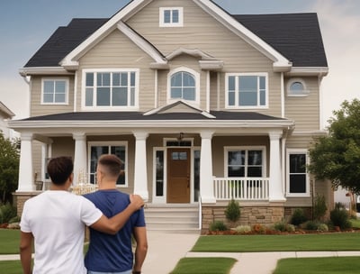
M0 132L0 202L11 202L19 174L18 143L4 138ZM0 204L1 204L0 203Z

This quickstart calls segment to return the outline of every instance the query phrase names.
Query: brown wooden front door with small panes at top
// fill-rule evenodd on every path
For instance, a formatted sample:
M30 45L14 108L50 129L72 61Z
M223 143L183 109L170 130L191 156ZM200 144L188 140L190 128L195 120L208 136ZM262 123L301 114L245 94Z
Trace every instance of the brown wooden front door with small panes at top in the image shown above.
M190 149L167 151L167 203L190 203Z

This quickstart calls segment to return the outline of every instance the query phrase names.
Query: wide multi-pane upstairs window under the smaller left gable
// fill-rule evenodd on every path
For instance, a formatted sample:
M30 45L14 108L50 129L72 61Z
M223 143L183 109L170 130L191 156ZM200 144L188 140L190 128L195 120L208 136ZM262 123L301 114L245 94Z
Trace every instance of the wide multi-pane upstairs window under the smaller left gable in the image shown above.
M86 71L85 107L125 108L137 105L138 72Z

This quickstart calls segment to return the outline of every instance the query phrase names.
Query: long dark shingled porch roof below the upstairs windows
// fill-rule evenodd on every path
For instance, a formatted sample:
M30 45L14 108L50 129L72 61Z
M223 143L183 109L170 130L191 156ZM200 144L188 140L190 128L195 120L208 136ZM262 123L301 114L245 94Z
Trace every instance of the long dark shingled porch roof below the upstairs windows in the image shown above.
M279 121L283 118L252 112L211 111L216 118L209 118L200 113L168 113L143 115L139 112L81 112L34 116L23 121L164 121L164 120L239 120L239 121Z

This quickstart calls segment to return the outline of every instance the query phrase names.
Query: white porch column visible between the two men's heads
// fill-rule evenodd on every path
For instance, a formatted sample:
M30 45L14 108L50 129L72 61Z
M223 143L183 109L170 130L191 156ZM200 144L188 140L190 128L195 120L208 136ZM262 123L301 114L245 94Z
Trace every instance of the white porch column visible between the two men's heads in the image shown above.
M75 140L75 155L74 155L74 184L77 185L80 172L87 173L87 159L86 159L86 135L84 132L73 133Z

